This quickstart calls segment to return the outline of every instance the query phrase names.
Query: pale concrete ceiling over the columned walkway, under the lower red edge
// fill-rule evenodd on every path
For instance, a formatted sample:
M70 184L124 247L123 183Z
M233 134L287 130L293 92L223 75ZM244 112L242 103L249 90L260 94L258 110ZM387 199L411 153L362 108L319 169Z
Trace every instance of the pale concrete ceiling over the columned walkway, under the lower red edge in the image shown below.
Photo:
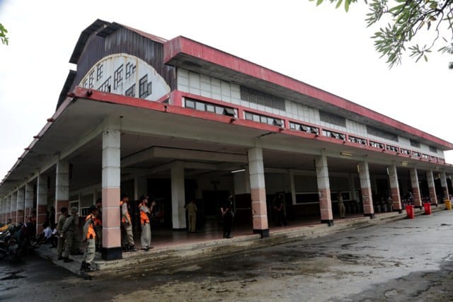
M35 178L38 168L41 169L40 173L55 173L55 163L59 157L71 163L72 188L100 183L101 130L106 118L120 121L122 162L127 163L136 157L130 161L130 165L122 167L123 178L140 169L144 174L152 173L158 171L159 166L187 158L190 158L191 163L189 175L208 171L229 173L246 165L247 150L253 146L263 147L266 168L314 170L313 159L321 153L328 156L329 171L332 172L353 173L357 163L364 160L370 162L370 170L380 171L395 160L395 156L386 153L371 152L372 156L369 156L370 151L365 149L328 144L278 131L269 132L85 98L68 99L67 104L63 104L59 110L62 112L57 112L46 124L1 183L0 197L22 186L26 180ZM137 156L141 152L145 154L142 158ZM341 156L340 153L350 153L352 156ZM401 166L399 161L401 159L395 164ZM374 167L373 163L378 165ZM418 165L420 169L435 167L430 163ZM212 170L211 167L215 168Z

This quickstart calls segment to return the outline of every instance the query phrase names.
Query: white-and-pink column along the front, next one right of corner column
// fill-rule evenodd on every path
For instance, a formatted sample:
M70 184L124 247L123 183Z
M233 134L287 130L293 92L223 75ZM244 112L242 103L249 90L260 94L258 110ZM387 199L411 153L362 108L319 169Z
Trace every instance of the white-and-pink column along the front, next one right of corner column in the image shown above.
M250 175L253 233L260 234L261 238L269 237L263 149L252 148L248 150L248 173Z

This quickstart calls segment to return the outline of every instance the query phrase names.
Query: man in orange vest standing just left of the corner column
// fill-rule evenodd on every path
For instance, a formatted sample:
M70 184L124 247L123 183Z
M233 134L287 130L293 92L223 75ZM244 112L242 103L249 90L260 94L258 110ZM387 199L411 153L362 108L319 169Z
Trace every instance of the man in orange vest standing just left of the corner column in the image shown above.
M96 270L91 266L91 262L93 262L94 256L96 255L96 232L94 231L94 223L96 221L97 213L98 209L96 208L96 206L91 206L90 214L88 214L85 219L82 240L86 242L86 248L84 258L82 260L82 265L80 267L80 270L85 272L93 272Z

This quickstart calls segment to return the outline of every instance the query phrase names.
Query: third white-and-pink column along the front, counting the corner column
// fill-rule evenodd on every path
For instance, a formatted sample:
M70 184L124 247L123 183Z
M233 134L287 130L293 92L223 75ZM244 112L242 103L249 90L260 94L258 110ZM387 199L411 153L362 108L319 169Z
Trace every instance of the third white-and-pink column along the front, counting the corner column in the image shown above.
M319 209L321 210L321 223L333 226L331 185L328 179L327 157L315 158L316 178L318 180Z

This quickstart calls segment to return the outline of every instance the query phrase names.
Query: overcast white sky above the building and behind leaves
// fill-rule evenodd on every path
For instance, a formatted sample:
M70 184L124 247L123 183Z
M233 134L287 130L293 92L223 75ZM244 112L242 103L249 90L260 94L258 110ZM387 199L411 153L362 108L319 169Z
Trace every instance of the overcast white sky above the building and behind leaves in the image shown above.
M0 45L0 179L55 112L76 68L69 57L96 18L166 39L190 37L453 141L452 57L404 59L389 70L374 51L365 13L362 4L345 13L308 0L0 0L10 37Z

